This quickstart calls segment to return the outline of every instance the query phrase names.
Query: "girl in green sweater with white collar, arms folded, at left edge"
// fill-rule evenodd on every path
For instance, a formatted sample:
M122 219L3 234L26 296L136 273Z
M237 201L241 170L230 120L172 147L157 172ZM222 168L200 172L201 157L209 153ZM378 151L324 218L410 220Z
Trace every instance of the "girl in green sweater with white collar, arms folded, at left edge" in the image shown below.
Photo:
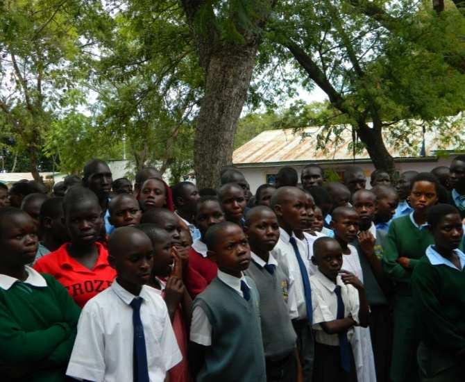
M37 229L22 210L0 208L0 379L65 381L80 309L58 281L26 264Z

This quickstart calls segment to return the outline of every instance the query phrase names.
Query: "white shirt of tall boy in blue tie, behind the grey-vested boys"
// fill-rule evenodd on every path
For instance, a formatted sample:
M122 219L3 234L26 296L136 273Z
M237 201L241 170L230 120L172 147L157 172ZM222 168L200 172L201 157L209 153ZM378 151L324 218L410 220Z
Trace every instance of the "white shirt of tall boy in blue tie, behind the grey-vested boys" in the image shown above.
M285 263L285 265L287 265L287 269L289 269L289 276L291 276L292 279L294 279L293 290L294 298L297 305L297 318L305 319L307 318L307 308L305 305L305 290L303 288L301 268L298 266L298 261L294 252L294 247L292 247L291 242L289 242L289 234L282 228L280 228L279 231L280 237L278 243L271 251L271 254L274 258L276 258L276 260L278 260L278 263L283 262ZM296 238L296 235L294 235L294 233L292 233L292 237L296 239L298 251L301 254L303 263L306 267L309 267L309 265L307 265L308 259L306 256L307 252L305 250L305 245L301 240L298 240L298 238Z

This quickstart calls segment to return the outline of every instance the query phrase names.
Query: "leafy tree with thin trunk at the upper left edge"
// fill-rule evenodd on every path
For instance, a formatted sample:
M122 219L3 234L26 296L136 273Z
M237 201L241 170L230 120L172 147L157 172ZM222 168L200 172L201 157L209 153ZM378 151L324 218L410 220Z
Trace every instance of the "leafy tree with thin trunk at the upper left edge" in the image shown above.
M44 134L79 74L81 8L62 0L0 3L1 130L8 152L26 155L37 181Z

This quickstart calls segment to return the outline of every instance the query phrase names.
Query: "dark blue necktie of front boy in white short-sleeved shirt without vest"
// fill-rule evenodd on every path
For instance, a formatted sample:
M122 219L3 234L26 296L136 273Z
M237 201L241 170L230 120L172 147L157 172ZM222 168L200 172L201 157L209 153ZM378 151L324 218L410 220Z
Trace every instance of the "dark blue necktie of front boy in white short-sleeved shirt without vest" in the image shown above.
M140 297L136 297L133 301L130 301L130 306L133 307L134 326L134 382L149 382L144 326L142 326L142 320L140 319L140 304L142 304L142 298Z

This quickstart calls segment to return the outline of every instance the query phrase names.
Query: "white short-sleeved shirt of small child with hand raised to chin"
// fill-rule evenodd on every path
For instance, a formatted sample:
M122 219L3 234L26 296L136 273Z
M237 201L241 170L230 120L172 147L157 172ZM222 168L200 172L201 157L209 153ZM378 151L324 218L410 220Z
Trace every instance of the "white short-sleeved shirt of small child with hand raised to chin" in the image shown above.
M339 337L337 334L328 334L321 328L321 322L330 322L337 319L337 296L335 293L336 285L341 287L341 297L344 301L344 317L352 316L355 322L359 322L358 312L360 301L358 292L353 285L346 285L337 276L336 284L328 277L322 274L319 269L315 274L310 276L310 285L312 286L312 305L313 305L313 329L315 330L315 341L320 344L339 346ZM353 328L347 331L347 337L350 341L353 336Z

